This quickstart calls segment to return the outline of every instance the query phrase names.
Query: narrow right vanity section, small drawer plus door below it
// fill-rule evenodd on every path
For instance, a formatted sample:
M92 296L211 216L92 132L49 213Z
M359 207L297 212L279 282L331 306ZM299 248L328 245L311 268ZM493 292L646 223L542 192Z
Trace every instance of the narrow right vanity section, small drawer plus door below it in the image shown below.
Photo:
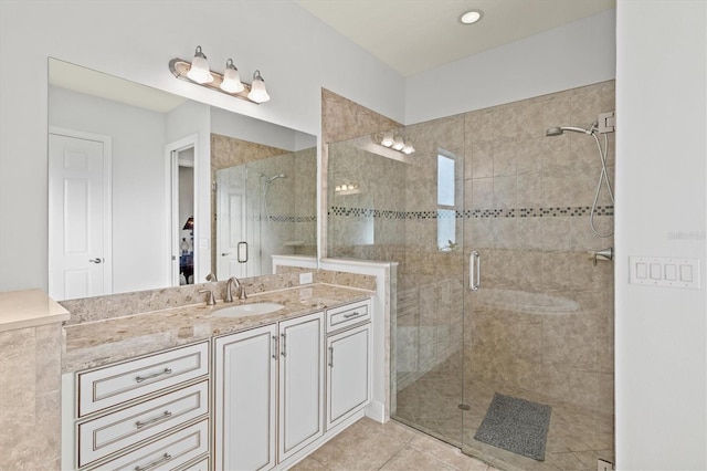
M371 400L370 301L328 310L327 430Z

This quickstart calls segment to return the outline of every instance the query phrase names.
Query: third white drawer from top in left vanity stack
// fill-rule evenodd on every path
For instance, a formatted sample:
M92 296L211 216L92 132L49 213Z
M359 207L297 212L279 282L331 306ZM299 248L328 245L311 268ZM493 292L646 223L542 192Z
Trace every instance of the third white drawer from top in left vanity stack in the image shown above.
M175 470L208 451L209 420L202 420L92 469ZM187 469L192 468L188 467Z

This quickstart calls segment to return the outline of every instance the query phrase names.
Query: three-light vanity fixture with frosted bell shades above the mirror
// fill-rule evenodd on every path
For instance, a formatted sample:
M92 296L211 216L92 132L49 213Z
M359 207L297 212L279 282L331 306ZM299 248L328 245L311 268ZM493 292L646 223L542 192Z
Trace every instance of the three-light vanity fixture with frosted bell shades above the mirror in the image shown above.
M246 102L260 105L270 101L261 71L253 73L253 83L250 84L241 81L241 75L232 59L225 61L223 74L213 72L209 69L209 62L200 45L197 46L191 62L183 59L172 59L169 61L169 70L177 78L196 83Z

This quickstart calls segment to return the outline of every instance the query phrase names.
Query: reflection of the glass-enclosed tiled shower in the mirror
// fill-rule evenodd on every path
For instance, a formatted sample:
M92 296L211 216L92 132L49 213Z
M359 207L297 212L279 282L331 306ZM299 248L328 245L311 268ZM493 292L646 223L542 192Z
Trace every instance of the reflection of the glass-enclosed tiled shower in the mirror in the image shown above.
M212 135L214 142L234 139ZM255 155L274 154L215 169L215 251L219 280L272 273L271 257L316 257L316 179L314 147L283 153L260 146Z

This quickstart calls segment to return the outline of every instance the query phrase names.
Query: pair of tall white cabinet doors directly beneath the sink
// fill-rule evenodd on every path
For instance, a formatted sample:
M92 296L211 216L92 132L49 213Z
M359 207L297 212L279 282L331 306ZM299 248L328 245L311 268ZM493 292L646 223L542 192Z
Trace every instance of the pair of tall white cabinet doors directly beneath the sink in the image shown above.
M214 339L217 470L275 468L324 435L324 313Z

